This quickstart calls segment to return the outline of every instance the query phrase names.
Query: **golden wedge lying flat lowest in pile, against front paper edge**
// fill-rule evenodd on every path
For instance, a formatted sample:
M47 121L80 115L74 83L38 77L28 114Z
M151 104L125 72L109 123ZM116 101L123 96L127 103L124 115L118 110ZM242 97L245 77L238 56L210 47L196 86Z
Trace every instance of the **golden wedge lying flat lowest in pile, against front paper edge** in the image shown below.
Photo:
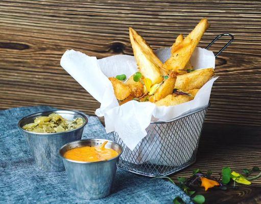
M170 94L158 100L155 104L156 106L175 106L178 104L183 104L189 100L192 100L193 98L193 96L189 95Z

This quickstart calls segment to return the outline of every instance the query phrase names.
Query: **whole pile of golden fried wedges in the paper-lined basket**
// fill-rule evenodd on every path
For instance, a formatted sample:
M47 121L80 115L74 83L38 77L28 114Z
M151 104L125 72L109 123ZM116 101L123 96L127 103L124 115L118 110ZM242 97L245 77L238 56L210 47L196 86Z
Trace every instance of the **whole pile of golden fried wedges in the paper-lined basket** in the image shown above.
M213 68L194 70L189 61L208 28L208 21L203 18L185 38L180 34L171 47L171 57L165 63L158 59L143 37L129 28L138 72L127 80L109 78L120 105L133 99L151 101L157 106L175 106L192 100L214 75Z

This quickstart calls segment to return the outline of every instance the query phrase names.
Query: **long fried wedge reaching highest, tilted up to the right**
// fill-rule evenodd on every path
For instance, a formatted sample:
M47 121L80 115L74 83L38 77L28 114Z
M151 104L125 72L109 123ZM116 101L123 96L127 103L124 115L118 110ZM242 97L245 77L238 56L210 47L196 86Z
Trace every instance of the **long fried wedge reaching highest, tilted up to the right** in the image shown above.
M175 46L172 57L164 63L163 68L175 72L178 72L179 69L184 69L208 27L207 19L203 18L195 29L189 33L182 42Z

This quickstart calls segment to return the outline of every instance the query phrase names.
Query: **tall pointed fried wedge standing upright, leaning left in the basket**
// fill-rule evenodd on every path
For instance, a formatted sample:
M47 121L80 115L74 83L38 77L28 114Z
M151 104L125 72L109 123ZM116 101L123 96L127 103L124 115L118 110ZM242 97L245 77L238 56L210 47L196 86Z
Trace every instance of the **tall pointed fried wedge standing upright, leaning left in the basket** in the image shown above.
M145 78L152 81L152 85L163 81L163 63L154 54L150 45L134 29L129 28L130 41L138 69Z

